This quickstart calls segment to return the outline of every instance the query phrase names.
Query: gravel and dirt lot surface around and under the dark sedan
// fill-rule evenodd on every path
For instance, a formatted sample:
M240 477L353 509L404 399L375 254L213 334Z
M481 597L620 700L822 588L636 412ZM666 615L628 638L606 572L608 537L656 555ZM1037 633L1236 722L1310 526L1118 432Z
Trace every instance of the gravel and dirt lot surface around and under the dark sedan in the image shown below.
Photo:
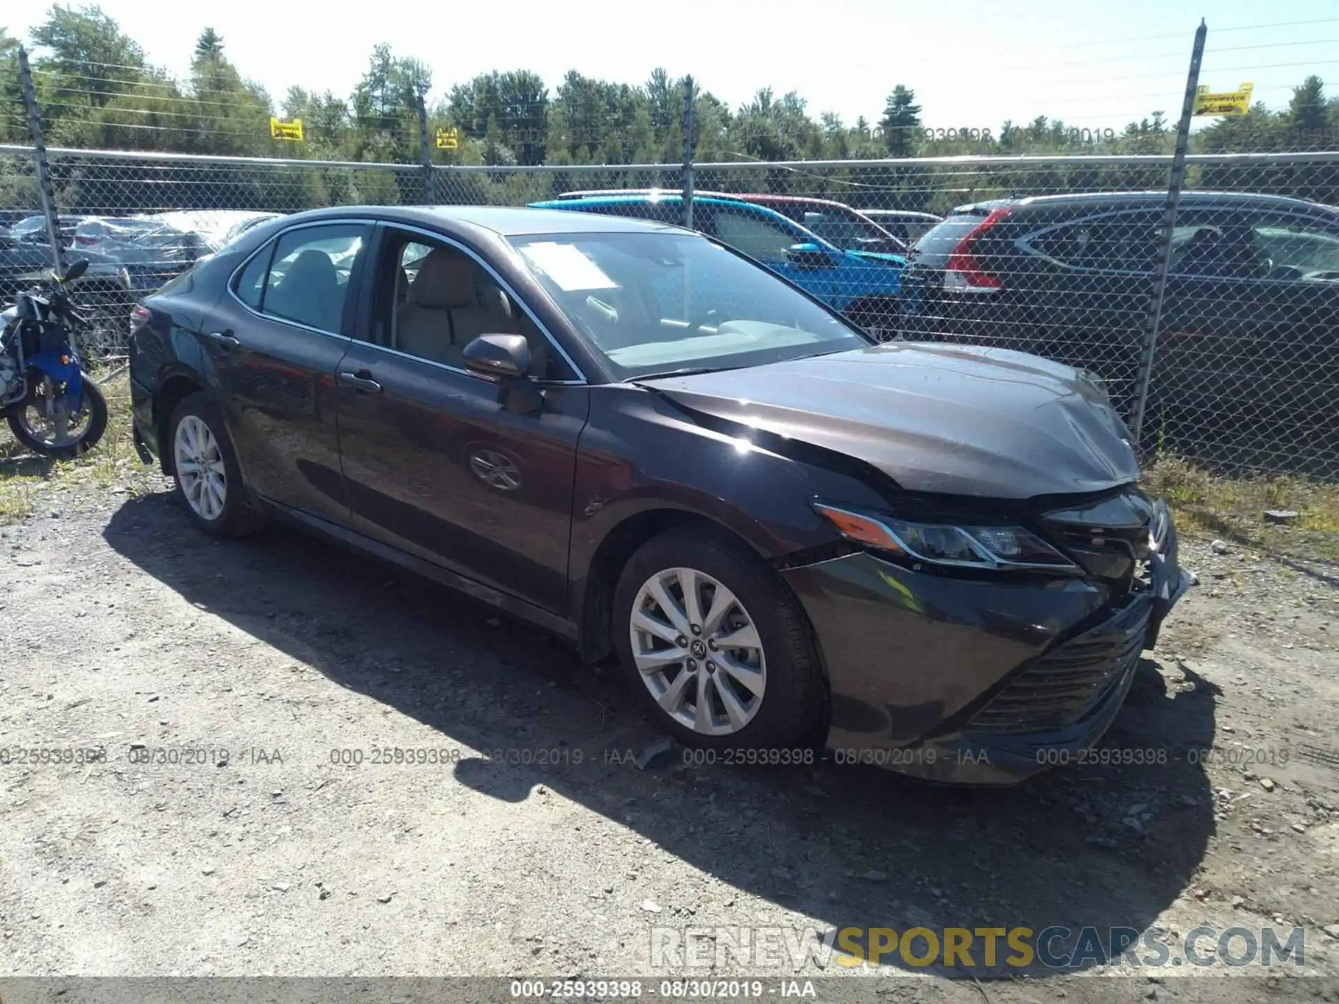
M0 975L793 976L676 968L652 928L1127 926L1180 956L1200 925L1300 925L1304 964L1271 969L799 975L845 977L819 1000L1339 1000L1332 568L1184 545L1200 584L1102 744L1142 763L1002 791L640 770L656 736L608 669L292 531L210 541L143 483L54 482L0 527L0 746L106 750L0 766Z

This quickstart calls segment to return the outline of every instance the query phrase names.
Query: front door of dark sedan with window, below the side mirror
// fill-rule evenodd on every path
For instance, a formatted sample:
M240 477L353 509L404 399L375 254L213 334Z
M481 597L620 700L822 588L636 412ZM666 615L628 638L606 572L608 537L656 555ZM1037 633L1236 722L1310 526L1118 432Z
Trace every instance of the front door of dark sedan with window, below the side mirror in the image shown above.
M586 388L474 256L379 228L368 312L339 365L340 454L362 533L553 612ZM506 407L465 368L485 333L525 335L542 407Z

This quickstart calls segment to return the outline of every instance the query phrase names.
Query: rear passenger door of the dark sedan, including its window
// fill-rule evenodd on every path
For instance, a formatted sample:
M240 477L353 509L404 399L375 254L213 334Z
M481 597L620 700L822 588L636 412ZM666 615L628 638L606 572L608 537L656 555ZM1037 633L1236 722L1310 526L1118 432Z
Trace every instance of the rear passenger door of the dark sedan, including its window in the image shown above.
M335 522L348 517L335 371L370 229L353 221L283 232L238 272L202 336L252 489Z

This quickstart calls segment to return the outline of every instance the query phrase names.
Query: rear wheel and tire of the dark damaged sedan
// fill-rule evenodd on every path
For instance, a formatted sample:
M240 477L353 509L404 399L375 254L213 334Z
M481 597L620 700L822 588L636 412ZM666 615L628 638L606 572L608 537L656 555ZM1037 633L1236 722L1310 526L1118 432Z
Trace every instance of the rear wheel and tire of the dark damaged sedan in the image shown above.
M167 442L177 495L195 525L216 537L245 537L269 522L242 479L222 412L205 394L178 402L167 420Z

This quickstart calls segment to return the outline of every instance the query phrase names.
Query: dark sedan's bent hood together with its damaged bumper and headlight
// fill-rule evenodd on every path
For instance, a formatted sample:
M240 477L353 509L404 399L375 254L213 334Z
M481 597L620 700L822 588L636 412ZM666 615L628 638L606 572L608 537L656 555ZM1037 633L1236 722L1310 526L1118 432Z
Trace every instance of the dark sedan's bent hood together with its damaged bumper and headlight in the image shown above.
M838 760L1010 784L1094 744L1188 576L1087 375L898 344L657 382L801 466L826 548L774 565L814 628Z

